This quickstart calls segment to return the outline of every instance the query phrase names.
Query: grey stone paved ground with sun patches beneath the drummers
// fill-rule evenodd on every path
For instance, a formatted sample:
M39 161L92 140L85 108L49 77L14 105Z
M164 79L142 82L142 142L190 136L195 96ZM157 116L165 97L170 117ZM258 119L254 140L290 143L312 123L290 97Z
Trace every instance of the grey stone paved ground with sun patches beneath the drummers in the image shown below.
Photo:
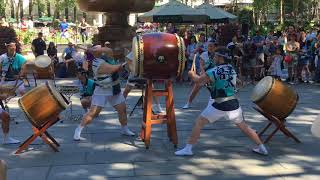
M62 84L71 83L60 81ZM105 180L105 179L320 179L320 141L310 134L310 126L320 113L320 87L297 85L300 101L288 118L288 127L303 143L297 144L281 133L267 145L268 157L250 152L253 144L231 123L221 120L208 125L194 148L193 157L175 157L173 145L166 138L164 125L153 129L151 147L144 148L138 137L119 134L117 115L108 107L84 130L86 141L74 142L72 135L79 123L66 118L49 132L61 143L60 152L53 152L41 140L35 141L27 152L14 155L16 145L0 146L0 158L8 162L9 180ZM255 129L267 121L255 112L249 99L252 86L238 94L245 118ZM193 108L182 110L189 93L188 85L175 85L175 107L179 147L182 147L193 122L206 106L205 89L196 98ZM130 94L128 111L140 96L138 90ZM75 114L82 114L79 100L73 97ZM276 102L275 102L276 103ZM31 134L30 123L18 109L16 99L9 104L19 124L12 123L15 138L26 139ZM65 116L68 117L69 111ZM136 110L129 126L139 132L142 112ZM2 135L0 135L2 137Z

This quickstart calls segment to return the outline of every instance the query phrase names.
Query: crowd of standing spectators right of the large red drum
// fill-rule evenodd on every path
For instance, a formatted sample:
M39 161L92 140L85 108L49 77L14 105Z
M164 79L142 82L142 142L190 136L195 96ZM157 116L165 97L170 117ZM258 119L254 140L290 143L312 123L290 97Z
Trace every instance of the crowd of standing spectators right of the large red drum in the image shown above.
M189 30L184 38L187 70L190 70L195 58L197 71L201 73L201 61L206 61L202 53L210 43L219 45L219 33L214 32L206 39L205 34L196 35ZM262 35L257 30L252 37L241 35L239 30L226 47L232 57L230 63L245 83L255 84L266 75L283 79L290 84L320 82L320 31L316 29L306 32L288 26L283 32L271 30L267 35ZM184 80L188 80L187 76Z

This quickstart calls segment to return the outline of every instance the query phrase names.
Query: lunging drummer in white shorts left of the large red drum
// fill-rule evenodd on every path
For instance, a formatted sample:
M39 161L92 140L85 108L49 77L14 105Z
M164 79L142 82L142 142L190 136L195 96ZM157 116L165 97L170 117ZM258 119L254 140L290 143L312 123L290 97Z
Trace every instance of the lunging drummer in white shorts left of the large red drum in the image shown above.
M110 48L95 46L91 49L95 59L93 60L93 73L96 88L92 96L92 105L88 113L82 119L74 133L74 140L79 141L83 128L92 122L107 103L118 112L121 124L121 134L134 136L135 134L127 126L127 110L125 98L121 93L118 72L124 68L124 64L115 65L113 51Z

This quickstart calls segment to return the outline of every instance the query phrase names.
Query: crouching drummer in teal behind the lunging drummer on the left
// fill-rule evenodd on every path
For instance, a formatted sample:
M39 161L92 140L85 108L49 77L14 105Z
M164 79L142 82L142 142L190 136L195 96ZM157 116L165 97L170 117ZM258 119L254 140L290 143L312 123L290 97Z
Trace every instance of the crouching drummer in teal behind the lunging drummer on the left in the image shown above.
M91 99L95 89L95 84L92 79L88 79L87 72L82 68L78 70L77 76L81 84L80 86L81 105L84 111L88 112L91 106Z

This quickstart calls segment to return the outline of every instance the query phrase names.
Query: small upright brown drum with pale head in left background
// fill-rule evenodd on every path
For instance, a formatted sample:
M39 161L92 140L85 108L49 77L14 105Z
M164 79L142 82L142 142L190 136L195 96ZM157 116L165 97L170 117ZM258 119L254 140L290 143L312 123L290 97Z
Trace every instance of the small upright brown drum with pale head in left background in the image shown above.
M54 70L52 60L49 56L41 55L34 60L34 75L38 79L52 79Z

